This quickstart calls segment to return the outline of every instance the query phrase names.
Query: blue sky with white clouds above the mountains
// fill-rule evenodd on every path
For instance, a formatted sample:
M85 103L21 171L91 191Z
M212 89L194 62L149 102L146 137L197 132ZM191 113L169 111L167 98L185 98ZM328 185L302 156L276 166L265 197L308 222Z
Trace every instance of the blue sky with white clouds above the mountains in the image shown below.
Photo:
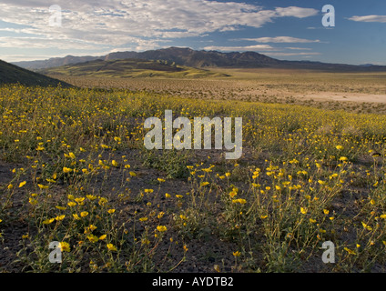
M61 8L61 23L51 5ZM321 23L323 5L335 26ZM56 6L57 8L57 6ZM168 46L287 60L386 65L382 0L2 0L0 58L106 55Z

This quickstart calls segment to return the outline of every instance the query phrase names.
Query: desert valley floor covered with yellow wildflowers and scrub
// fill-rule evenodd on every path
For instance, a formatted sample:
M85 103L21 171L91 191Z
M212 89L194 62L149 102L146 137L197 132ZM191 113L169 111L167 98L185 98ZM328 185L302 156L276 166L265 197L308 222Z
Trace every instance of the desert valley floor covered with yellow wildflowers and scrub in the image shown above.
M2 86L0 270L385 272L386 103L352 96L386 75L247 73ZM243 155L147 150L167 109L242 116Z

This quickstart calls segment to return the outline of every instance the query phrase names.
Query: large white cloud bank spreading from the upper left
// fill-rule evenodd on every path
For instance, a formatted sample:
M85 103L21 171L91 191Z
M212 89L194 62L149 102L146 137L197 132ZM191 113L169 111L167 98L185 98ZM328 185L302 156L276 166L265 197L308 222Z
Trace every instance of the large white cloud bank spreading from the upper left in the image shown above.
M0 47L139 50L171 38L234 31L243 25L258 28L279 17L319 13L295 6L265 10L259 5L208 0L56 0L55 4L62 8L62 27L48 25L51 14L46 0L2 0L0 19L12 24L2 31L31 37L4 36ZM15 25L21 26L12 28Z

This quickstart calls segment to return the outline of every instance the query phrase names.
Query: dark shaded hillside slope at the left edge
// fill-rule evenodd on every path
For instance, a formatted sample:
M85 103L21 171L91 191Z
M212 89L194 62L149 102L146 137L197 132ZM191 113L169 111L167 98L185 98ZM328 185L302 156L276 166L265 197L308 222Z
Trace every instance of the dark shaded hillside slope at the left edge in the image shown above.
M69 86L54 78L28 71L17 65L12 65L0 60L0 85L17 83L21 85L56 86L61 84L63 86Z

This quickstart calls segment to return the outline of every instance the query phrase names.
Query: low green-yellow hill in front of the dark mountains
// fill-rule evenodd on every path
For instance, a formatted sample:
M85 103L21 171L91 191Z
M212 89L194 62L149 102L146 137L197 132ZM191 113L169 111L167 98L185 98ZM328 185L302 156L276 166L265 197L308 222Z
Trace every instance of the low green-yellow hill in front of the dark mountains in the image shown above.
M97 77L208 77L226 76L206 69L175 65L168 61L142 59L94 60L38 71L45 75L82 75Z

